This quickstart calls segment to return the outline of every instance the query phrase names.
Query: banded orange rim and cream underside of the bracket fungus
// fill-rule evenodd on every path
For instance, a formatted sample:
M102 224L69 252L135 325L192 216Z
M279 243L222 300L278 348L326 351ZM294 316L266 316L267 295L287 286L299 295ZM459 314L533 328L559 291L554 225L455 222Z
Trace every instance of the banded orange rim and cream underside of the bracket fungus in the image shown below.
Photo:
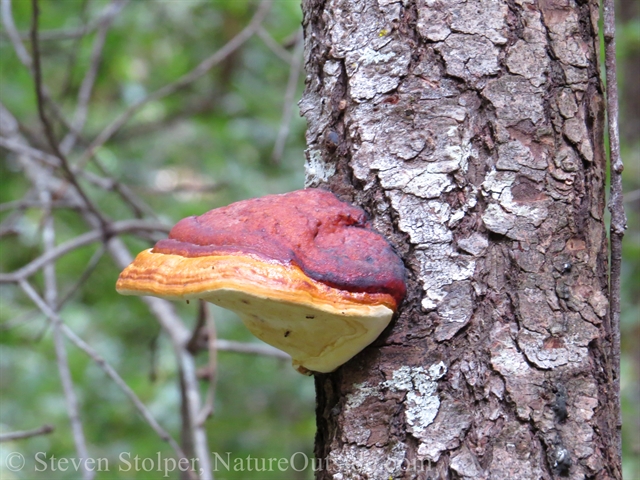
M232 310L258 338L291 355L301 373L331 372L391 321L387 294L340 290L295 265L245 254L183 257L141 252L116 285L124 295L202 299Z

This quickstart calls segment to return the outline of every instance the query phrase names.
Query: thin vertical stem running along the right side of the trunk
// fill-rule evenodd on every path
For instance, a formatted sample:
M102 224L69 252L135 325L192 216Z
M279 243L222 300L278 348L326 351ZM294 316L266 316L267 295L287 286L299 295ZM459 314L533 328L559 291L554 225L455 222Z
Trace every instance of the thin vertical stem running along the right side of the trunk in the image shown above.
M609 123L609 165L611 190L611 241L609 270L609 317L611 325L611 349L613 359L614 401L617 414L615 445L618 462L622 458L622 413L620 408L620 274L622 267L622 237L627 228L622 198L622 170L620 158L620 134L618 131L618 80L616 75L616 25L614 0L604 0L604 43L607 79L607 119ZM619 464L619 463L618 463Z

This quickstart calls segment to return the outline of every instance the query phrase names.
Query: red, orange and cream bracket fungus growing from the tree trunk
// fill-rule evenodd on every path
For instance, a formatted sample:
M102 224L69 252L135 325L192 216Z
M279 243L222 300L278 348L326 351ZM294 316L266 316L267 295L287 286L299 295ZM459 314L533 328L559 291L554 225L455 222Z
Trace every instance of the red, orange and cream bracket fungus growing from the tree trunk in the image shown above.
M373 342L406 292L402 260L365 212L320 189L185 218L116 289L233 310L301 373L331 372Z

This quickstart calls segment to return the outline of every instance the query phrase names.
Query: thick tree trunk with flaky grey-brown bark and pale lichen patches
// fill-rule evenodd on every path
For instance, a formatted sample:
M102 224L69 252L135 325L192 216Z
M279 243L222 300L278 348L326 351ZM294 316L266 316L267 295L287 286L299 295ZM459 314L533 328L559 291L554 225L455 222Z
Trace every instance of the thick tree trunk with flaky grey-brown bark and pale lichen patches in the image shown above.
M620 478L593 0L306 0L307 185L409 294L316 376L317 478Z

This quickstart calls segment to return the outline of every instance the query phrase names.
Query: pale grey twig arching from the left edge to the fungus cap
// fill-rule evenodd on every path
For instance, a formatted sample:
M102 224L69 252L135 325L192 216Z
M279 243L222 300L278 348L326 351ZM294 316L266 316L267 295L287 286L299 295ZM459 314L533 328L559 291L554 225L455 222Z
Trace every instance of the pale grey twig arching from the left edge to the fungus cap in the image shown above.
M111 236L135 231L168 232L169 228L165 225L157 223L151 224L142 220L121 220L109 225L109 235ZM62 257L63 255L66 255L67 253L84 245L89 245L90 243L97 242L98 240L103 240L104 238L104 234L101 230L91 230L90 232L78 235L71 240L61 243L55 248L52 248L50 251L39 256L19 270L11 273L0 273L0 284L18 282L22 279L28 278L57 258Z

